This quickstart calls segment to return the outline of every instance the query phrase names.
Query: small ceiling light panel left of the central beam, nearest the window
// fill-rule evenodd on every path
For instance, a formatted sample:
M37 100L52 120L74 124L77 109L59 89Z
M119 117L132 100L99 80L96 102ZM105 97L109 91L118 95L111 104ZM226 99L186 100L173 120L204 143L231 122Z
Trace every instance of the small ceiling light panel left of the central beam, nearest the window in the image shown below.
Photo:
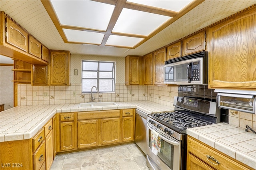
M62 29L68 39L68 42L101 44L104 35L97 32L87 32L79 30Z

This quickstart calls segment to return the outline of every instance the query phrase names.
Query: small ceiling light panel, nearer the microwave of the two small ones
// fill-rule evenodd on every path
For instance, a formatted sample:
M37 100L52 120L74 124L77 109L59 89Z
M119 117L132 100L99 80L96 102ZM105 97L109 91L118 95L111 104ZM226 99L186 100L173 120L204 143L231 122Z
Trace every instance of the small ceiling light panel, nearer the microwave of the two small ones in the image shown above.
M106 42L106 45L134 47L134 45L142 40L144 40L144 38L110 35Z

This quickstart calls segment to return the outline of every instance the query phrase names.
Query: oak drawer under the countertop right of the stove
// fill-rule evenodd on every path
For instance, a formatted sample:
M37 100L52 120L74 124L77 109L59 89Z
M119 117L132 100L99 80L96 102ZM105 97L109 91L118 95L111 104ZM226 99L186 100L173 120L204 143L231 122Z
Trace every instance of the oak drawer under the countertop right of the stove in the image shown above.
M203 144L197 142L196 140L193 140L192 138L188 138L188 152L192 153L193 155L196 155L196 157L198 157L204 163L208 164L209 166L217 170L248 170L244 166L212 150L211 148L204 146ZM210 158L207 158L207 156ZM217 160L219 164L216 163L214 159Z

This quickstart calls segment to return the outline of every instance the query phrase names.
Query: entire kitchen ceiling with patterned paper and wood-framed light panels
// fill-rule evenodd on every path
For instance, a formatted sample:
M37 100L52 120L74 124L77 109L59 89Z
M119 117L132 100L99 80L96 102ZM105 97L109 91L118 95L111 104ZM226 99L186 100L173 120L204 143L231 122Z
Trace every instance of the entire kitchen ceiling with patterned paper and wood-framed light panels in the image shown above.
M170 8L177 1L187 6ZM256 0L177 1L0 0L0 7L49 49L125 57L145 55L256 4ZM142 20L137 20L138 14Z

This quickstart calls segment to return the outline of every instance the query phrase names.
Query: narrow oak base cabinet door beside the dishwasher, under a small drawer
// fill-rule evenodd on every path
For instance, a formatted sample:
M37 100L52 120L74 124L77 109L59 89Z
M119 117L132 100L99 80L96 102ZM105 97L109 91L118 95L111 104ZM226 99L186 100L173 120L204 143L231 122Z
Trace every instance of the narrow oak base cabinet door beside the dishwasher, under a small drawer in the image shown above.
M134 119L133 116L123 117L122 119L122 141L134 140Z

